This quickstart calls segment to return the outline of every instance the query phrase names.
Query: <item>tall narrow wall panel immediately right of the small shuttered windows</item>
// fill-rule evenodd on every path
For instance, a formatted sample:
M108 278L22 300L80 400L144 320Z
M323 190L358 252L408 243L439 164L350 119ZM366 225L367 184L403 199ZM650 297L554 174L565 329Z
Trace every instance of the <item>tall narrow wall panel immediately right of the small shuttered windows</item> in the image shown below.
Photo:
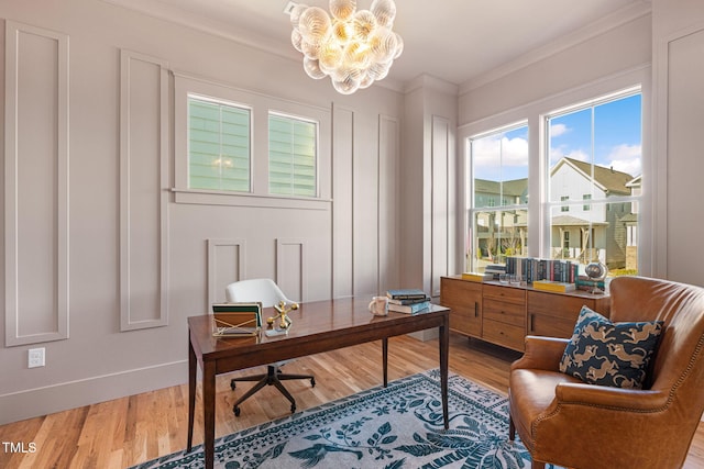
M332 298L354 294L352 135L354 113L332 113Z

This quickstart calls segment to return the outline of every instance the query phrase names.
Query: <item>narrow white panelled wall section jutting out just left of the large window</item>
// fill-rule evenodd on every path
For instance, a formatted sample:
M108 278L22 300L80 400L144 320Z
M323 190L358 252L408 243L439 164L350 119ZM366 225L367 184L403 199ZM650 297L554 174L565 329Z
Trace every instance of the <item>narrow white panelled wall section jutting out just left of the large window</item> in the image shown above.
M453 271L457 171L454 85L420 76L406 90L400 206L402 282L440 295Z

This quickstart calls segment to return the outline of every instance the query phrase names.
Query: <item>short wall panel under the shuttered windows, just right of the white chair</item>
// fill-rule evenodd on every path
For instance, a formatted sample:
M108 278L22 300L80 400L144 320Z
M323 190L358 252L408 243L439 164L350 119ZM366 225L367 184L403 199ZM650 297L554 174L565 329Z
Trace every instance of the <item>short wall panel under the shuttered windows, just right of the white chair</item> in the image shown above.
M294 301L307 301L306 241L276 239L276 283Z

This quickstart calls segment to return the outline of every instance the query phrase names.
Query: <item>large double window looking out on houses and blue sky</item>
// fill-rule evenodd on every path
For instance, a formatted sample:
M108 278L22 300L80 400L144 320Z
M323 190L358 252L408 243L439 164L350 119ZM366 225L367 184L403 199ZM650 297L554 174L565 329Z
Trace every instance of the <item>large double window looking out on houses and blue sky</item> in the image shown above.
M583 90L574 94L584 98ZM496 115L463 131L466 270L482 272L517 256L601 261L614 275L638 273L640 87L546 109L561 100L506 113L522 120L519 125L484 129L501 122Z

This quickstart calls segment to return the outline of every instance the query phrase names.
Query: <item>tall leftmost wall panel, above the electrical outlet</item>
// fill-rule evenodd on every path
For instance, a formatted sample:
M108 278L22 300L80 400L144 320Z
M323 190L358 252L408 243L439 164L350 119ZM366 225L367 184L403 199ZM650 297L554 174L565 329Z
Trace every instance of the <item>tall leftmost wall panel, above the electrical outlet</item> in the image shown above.
M6 22L6 345L68 338L68 36Z

